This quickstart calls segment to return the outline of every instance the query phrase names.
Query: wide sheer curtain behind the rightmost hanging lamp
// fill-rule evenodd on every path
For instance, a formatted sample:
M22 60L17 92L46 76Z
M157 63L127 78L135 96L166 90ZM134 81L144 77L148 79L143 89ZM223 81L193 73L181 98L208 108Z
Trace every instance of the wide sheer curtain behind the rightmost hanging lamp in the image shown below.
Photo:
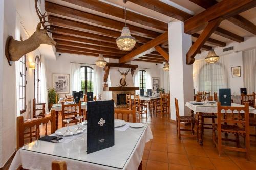
M228 88L228 57L220 56L216 63L207 63L205 60L195 61L193 64L193 75L196 81L195 92L210 91L219 92L219 88Z

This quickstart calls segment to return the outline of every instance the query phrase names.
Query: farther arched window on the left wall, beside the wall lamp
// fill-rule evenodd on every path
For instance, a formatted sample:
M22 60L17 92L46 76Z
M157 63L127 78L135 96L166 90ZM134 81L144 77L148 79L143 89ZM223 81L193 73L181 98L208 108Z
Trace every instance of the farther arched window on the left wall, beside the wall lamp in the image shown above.
M35 58L35 72L34 72L34 87L35 87L35 100L36 103L41 102L41 61L39 56Z

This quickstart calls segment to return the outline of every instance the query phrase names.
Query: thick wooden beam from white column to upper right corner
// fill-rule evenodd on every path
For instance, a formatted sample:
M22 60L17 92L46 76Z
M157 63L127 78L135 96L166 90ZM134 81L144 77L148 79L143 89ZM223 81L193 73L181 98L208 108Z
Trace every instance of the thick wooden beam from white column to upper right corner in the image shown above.
M255 0L223 0L184 22L184 33L203 30L209 21L221 17L227 19L256 6Z

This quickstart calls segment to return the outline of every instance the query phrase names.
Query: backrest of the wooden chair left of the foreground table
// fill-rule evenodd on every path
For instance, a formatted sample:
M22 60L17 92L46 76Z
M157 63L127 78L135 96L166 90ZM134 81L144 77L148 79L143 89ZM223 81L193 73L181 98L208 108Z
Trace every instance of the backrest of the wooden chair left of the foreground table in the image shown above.
M17 149L23 147L24 145L24 131L26 129L33 128L35 126L39 126L42 123L51 122L51 134L56 130L56 113L55 110L51 111L51 116L48 117L40 117L33 118L29 120L25 120L23 116L17 117ZM47 135L47 126L45 127L45 135ZM39 134L38 134L39 135Z

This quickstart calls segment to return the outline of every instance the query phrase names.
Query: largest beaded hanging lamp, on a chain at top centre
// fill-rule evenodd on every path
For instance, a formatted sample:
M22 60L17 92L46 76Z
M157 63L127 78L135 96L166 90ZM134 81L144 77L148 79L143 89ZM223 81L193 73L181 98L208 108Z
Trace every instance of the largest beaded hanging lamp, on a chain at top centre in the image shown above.
M129 28L126 26L126 1L124 2L124 17L125 17L125 26L122 29L121 36L116 39L116 44L120 50L129 51L132 50L136 44L135 38L131 36Z

